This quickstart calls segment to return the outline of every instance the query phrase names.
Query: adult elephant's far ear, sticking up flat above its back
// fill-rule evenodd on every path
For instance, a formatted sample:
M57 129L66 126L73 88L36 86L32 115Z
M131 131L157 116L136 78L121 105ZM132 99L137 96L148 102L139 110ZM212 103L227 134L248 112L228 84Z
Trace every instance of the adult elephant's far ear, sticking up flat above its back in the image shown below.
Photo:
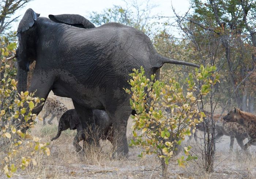
M95 27L88 19L78 14L49 15L49 19L57 23L64 23L79 28Z

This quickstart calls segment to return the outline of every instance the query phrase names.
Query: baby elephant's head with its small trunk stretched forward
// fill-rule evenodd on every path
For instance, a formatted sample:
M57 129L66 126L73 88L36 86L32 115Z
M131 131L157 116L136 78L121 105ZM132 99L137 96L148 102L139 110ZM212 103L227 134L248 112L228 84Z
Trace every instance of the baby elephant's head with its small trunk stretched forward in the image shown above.
M65 131L68 128L70 130L75 130L78 125L79 125L79 119L75 112L75 109L67 110L65 113L62 114L59 121L58 133L56 137L53 137L51 139L51 141L58 139L62 131Z

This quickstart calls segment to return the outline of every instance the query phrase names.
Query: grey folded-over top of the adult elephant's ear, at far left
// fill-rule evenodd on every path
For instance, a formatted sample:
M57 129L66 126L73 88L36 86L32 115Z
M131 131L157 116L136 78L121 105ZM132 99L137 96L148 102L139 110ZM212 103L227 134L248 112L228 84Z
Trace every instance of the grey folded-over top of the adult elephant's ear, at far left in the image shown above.
M17 33L24 32L28 30L30 27L32 27L37 20L37 17L39 17L40 14L35 13L33 9L29 8L25 12L24 16L22 17L22 20L19 23Z

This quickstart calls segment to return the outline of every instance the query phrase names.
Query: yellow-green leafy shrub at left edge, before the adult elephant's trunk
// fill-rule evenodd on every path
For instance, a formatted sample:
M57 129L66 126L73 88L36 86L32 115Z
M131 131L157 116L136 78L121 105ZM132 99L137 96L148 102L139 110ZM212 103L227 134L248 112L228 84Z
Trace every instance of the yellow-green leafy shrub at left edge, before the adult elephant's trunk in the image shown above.
M32 113L41 100L33 93L17 91L15 80L17 69L8 56L15 54L16 43L1 38L0 56L0 170L8 178L18 169L24 170L32 163L37 153L50 155L48 143L42 143L38 137L31 136L25 128L32 128L36 115ZM10 65L11 64L11 65ZM20 153L28 153L23 156Z

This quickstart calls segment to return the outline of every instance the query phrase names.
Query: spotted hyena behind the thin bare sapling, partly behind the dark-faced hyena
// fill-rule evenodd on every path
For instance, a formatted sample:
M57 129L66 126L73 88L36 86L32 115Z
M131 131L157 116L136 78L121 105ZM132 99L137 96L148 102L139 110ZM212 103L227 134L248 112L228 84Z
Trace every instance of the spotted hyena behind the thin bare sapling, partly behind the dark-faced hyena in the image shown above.
M224 114L225 115L225 114ZM215 121L215 141L217 141L220 137L223 135L230 137L230 150L233 150L234 145L234 139L236 138L238 145L241 147L241 149L244 148L243 141L246 137L248 137L248 134L246 132L246 129L236 122L226 122L223 120L220 114L214 115L214 121ZM194 138L197 141L197 130L204 131L203 123L199 123L199 125L196 126L196 131L194 133ZM192 135L189 136L189 140L192 139Z

